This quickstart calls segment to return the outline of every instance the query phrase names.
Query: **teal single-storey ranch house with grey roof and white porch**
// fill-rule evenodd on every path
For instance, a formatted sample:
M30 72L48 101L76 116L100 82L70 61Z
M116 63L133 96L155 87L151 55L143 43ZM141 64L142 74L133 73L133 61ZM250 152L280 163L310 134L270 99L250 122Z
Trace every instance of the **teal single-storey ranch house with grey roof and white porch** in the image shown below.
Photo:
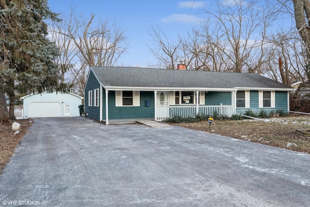
M163 120L174 115L231 116L289 111L287 85L258 74L91 66L84 90L87 117Z

